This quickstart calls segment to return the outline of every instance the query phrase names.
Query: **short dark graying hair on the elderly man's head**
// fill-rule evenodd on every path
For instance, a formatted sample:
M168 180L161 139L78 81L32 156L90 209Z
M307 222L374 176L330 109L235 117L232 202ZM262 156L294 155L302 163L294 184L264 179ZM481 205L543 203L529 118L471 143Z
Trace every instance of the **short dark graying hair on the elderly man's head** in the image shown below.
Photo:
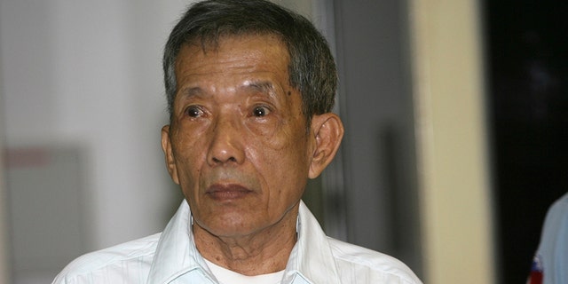
M326 39L303 16L264 0L207 0L193 4L173 28L163 56L170 119L177 92L175 65L189 43L216 48L223 36L275 35L288 49L289 83L302 94L309 123L315 114L331 112L337 71Z

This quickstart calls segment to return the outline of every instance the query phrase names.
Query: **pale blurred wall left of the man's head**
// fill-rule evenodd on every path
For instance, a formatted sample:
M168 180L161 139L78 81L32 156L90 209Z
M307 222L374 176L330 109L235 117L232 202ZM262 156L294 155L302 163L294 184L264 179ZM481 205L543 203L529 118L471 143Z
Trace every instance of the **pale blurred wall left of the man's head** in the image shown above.
M161 54L186 4L0 1L4 146L83 150L86 250L160 232L180 200L160 147Z

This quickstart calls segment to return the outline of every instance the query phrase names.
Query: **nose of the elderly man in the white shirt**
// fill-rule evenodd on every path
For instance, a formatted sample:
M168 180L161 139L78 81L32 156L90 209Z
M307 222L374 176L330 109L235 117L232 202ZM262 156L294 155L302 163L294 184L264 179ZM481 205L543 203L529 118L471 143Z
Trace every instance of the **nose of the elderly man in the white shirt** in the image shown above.
M210 132L207 160L210 166L241 164L245 153L239 122L229 117L219 117Z

